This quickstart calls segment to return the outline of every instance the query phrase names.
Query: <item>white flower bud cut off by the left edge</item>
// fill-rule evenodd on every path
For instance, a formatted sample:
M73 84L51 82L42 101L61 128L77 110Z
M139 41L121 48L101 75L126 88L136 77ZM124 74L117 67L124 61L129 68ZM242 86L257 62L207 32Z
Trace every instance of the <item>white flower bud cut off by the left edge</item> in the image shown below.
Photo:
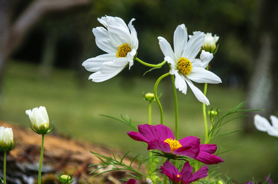
M8 151L9 148L13 148L13 132L12 128L0 127L0 150Z

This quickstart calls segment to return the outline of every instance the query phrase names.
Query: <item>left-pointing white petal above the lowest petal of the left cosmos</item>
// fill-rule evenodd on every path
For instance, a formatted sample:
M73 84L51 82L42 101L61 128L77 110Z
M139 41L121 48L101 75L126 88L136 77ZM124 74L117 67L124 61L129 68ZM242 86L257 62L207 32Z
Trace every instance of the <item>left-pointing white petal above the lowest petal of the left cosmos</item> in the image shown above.
M101 70L104 62L113 61L116 59L116 53L103 54L94 58L89 58L82 63L82 66L89 72L97 72Z

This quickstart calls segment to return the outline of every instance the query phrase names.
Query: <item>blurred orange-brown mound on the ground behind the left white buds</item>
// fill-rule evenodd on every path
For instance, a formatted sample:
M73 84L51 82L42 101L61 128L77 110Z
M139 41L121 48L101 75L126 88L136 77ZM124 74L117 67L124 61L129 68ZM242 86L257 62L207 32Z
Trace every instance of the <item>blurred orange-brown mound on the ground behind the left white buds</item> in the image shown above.
M6 122L0 122L0 126L11 127L14 141L18 140L15 148L7 154L7 183L36 183L42 135L36 134L31 128ZM90 150L105 156L110 156L111 151L123 155L117 150L109 150L84 141L76 141L69 137L56 135L53 132L45 135L42 184L59 183L57 172L74 174L74 183L124 183L120 179L128 178L128 175L122 171L91 177L89 173L96 168L89 167L89 165L100 164L100 160L90 153ZM3 178L2 152L0 162L0 176Z

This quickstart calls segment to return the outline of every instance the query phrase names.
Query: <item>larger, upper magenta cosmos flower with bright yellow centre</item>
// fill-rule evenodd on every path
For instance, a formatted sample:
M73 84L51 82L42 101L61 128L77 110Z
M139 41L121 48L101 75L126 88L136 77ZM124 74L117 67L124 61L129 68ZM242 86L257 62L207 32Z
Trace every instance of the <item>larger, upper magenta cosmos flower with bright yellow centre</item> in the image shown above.
M127 134L136 141L147 143L148 150L160 150L167 157L184 155L205 164L224 162L219 156L212 154L217 149L216 145L200 145L200 139L195 136L187 136L181 140L175 140L172 131L165 125L138 125L138 131L130 131Z

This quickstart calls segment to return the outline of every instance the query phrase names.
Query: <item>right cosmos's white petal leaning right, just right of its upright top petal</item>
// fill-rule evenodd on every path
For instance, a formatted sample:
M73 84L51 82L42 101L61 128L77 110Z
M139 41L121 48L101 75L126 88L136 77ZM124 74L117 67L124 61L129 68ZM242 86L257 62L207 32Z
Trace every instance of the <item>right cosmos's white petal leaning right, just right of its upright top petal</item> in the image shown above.
M186 48L184 49L183 57L192 61L195 59L197 54L200 52L205 39L205 33L197 31L191 38L188 40Z

